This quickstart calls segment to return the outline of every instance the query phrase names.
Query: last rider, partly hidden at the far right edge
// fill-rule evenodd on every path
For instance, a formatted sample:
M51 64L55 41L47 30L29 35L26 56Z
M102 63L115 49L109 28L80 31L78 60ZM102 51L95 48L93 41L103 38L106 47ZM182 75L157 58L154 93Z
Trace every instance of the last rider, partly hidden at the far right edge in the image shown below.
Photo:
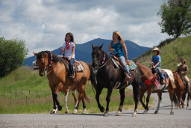
M188 65L186 64L186 60L181 58L180 64L177 66L178 74L181 76L181 79L186 82L186 85L189 84L189 78L187 76L188 74Z

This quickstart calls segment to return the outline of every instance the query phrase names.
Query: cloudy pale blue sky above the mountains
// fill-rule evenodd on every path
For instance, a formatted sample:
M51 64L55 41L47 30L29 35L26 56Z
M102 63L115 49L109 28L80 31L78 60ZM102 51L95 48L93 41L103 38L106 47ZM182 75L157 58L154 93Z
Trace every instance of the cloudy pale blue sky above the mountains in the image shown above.
M157 12L165 0L0 0L0 36L25 40L29 50L53 50L72 32L77 43L111 39L120 31L124 39L155 46L162 34Z

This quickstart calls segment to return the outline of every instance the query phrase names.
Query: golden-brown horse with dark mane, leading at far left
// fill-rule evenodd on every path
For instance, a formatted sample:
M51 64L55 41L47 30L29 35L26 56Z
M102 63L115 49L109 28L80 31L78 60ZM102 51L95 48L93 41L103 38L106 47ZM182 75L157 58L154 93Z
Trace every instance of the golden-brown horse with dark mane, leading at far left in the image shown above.
M75 104L74 112L76 113L79 107L80 101L83 103L83 112L86 111L85 100L88 100L85 92L86 82L90 79L90 68L88 64L85 62L78 62L83 66L83 71L76 72L75 78L68 78L68 62L66 59L58 57L52 54L50 51L42 51L37 54L36 63L39 66L39 75L44 76L45 72L47 72L47 77L49 81L49 86L52 91L52 99L53 99L53 110L52 114L60 111L62 109L58 99L57 94L59 92L64 92L65 94L65 107L66 113L69 112L67 99L69 91L77 90L79 93L78 100ZM74 99L75 95L73 94Z

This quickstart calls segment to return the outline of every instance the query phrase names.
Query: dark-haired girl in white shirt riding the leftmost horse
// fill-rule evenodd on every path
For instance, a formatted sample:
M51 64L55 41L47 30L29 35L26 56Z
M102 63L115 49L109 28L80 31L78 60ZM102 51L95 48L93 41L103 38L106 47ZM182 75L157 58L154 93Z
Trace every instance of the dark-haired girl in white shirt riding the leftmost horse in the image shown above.
M66 57L69 60L69 73L68 76L70 78L74 77L74 69L73 65L75 63L75 42L74 42L74 36L71 32L66 33L65 36L65 43L63 47L61 48L61 53L64 57Z

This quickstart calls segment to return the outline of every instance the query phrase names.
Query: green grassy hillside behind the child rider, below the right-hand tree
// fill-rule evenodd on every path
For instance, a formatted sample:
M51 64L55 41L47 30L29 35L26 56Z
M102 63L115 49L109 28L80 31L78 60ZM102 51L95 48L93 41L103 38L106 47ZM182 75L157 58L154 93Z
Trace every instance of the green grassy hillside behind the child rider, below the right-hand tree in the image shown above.
M179 58L182 57L187 60L189 69L191 70L191 36L184 38L177 38L176 40L166 44L160 48L162 57L162 68L176 70ZM137 60L143 64L150 65L151 52L141 56ZM189 71L189 77L191 77L191 71Z

